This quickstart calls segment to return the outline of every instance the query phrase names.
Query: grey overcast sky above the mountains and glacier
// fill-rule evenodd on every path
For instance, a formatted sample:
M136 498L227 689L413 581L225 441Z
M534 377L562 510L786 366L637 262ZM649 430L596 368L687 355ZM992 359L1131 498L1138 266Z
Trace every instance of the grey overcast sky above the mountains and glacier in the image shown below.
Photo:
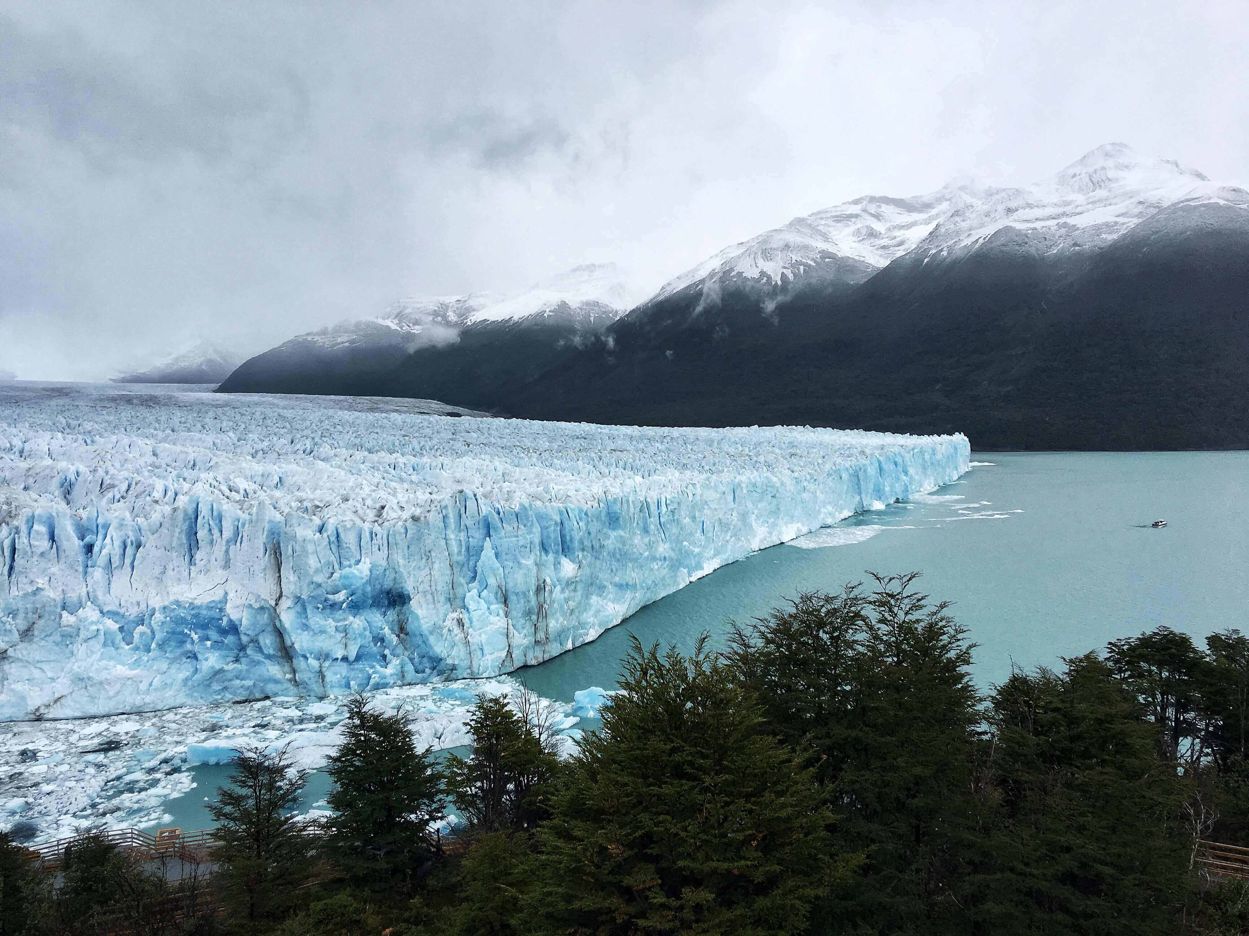
M1249 16L1200 2L0 0L0 368L264 349L1123 141L1249 181Z

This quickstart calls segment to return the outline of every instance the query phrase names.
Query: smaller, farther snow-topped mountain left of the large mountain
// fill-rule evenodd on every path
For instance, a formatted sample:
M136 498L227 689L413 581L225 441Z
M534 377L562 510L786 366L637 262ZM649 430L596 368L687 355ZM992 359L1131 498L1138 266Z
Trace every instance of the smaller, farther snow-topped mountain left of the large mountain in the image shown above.
M446 364L452 379L466 373L463 356L477 357L495 343L536 341L541 348L597 334L624 314L641 295L615 263L575 267L513 296L407 298L378 317L340 322L296 336L239 367L225 392L410 396L396 392L407 379L393 373L416 354L412 379L445 393L428 377ZM455 363L450 363L455 362ZM518 363L518 362L511 362ZM506 362L501 362L506 367ZM441 399L441 396L433 397Z

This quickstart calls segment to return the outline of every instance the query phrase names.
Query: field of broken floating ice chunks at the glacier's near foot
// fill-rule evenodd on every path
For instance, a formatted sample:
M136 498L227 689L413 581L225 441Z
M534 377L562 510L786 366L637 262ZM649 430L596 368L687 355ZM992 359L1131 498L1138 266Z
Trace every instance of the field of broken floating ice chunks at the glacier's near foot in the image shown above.
M410 716L420 748L468 743L465 719L478 694L513 704L522 686L511 676L383 689L371 704ZM536 700L571 753L583 716L597 716L602 689L577 693L573 705ZM192 769L227 764L244 746L287 748L309 770L325 766L341 744L345 698L277 698L217 703L95 719L20 721L0 726L0 829L40 842L90 827L169 825L170 800L212 797L196 789ZM287 746L289 745L289 746ZM309 814L311 815L311 814Z

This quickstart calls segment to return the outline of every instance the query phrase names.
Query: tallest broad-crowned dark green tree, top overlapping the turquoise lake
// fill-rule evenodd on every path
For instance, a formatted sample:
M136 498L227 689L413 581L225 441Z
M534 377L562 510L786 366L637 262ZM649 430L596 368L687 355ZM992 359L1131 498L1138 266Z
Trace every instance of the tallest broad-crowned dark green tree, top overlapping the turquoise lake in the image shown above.
M836 847L866 856L822 906L827 931L968 925L962 891L987 807L973 645L916 578L804 594L731 640L769 730L817 765Z

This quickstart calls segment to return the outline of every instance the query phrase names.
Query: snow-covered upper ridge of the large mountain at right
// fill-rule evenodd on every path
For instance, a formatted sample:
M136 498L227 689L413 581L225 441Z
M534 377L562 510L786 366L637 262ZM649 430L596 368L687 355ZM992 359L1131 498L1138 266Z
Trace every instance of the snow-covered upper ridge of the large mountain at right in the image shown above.
M1244 190L1172 160L1108 144L1020 188L962 180L931 195L868 195L794 218L726 247L664 283L647 305L711 282L774 288L823 276L857 283L906 255L921 261L963 255L1005 227L1048 252L1104 246L1165 206L1244 197Z

